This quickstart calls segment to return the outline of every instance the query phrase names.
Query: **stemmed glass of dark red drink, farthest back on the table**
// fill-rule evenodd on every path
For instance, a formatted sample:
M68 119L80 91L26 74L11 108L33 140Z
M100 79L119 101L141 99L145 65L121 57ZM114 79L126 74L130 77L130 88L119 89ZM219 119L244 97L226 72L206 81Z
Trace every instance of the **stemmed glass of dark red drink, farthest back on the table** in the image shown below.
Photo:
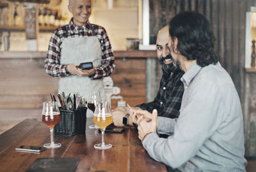
M100 92L99 91L92 91L89 93L87 106L88 109L90 109L93 113L95 111L95 107L97 105L97 102L101 102ZM97 125L94 123L89 126L89 129L99 129Z

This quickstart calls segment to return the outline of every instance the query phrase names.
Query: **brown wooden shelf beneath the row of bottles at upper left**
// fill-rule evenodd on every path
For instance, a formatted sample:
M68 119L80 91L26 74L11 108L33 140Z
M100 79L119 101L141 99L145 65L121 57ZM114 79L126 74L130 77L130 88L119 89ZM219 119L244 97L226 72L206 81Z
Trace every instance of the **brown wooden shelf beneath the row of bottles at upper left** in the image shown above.
M59 26L39 26L39 31L52 32ZM25 26L0 26L0 31L25 31Z

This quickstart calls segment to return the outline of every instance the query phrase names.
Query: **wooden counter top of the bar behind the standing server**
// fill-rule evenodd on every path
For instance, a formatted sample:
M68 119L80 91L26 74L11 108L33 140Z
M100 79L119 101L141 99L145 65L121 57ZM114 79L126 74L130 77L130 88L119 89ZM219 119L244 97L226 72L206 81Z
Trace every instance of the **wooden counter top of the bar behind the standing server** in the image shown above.
M114 51L115 58L156 58L156 51ZM0 58L45 58L46 51L1 51Z

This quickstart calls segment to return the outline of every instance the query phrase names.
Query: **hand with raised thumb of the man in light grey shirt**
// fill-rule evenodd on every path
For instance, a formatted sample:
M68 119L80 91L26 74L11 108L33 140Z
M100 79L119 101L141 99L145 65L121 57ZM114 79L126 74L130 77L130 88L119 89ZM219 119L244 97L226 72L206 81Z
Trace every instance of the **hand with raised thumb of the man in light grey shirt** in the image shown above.
M157 110L154 109L152 113L152 121L147 122L143 120L143 116L140 116L138 119L138 134L139 134L139 139L143 141L144 137L152 132L156 132L157 129Z

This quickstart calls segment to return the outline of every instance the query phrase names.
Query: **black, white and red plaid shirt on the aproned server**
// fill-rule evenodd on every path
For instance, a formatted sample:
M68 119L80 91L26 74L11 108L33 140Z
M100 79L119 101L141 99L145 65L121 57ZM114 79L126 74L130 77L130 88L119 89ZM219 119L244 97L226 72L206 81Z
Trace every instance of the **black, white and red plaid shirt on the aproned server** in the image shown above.
M93 27L95 35L97 35L99 39L102 50L102 60L101 65L95 67L95 74L90 75L90 77L92 79L99 79L106 77L113 72L113 69L115 68L115 58L104 27L90 24L90 22L86 22L86 24L79 27L74 25L73 19L71 19L68 24L68 33L66 33L67 25L58 27L58 29L52 33L47 58L45 59L45 72L47 74L53 77L65 77L71 75L66 70L67 65L61 65L60 63L61 43L66 36L68 38L93 36L91 27Z

